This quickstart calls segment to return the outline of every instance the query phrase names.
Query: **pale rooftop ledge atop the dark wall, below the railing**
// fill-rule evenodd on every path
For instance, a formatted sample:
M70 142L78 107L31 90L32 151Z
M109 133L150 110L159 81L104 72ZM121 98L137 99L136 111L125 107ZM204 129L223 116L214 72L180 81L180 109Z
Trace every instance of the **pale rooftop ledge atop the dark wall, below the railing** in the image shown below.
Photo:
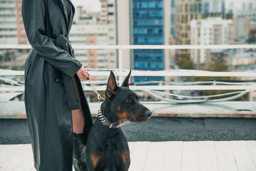
M256 101L227 101L216 103L170 104L141 102L153 112L153 117L177 118L256 118ZM99 103L89 103L96 117ZM24 101L0 103L0 119L25 119Z

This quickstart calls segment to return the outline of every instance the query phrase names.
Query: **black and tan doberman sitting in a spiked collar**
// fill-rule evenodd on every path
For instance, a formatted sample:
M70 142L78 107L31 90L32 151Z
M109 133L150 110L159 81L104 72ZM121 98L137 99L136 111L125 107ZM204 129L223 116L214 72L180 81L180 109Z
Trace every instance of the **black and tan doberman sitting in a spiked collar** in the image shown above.
M147 121L152 113L138 102L138 96L130 90L126 76L122 86L116 85L111 71L106 87L106 100L101 104L93 128L88 136L86 164L90 171L125 171L130 166L130 150L121 125L126 122Z

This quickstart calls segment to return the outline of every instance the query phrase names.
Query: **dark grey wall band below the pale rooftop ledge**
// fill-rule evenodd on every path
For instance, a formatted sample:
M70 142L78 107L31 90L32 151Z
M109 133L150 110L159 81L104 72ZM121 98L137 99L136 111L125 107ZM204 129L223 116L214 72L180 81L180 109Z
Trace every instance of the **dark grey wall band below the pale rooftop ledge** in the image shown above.
M146 123L123 126L122 130L130 142L256 140L256 119L150 118ZM25 119L0 119L0 144L29 142Z

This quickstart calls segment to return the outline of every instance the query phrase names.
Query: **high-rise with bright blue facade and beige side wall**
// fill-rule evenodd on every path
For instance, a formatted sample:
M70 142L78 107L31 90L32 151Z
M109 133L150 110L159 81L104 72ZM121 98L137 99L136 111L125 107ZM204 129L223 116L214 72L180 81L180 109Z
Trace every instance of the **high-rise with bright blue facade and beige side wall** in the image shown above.
M168 45L170 43L170 0L117 1L119 45ZM174 5L174 4L173 4ZM169 50L123 50L123 68L156 71L170 67ZM135 77L134 81L162 80Z

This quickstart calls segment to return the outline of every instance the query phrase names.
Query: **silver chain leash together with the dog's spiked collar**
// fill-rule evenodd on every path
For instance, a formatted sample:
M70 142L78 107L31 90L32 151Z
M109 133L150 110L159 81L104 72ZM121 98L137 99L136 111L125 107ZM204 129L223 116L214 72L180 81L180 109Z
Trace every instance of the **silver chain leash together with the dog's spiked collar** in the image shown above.
M105 100L105 98L101 97L101 94L98 93L98 91L96 90L96 88L93 86L93 84L91 83L91 80L90 78L87 78L87 81L90 83L90 86L91 88L93 89L93 93L96 93L97 94L97 98L98 98L98 103L101 104L101 100ZM84 80L83 80L83 89L84 89ZM102 110L101 110L101 107L100 109L98 110L98 115L97 115L98 119L101 121L101 123L105 126L107 126L108 128L111 128L111 129L116 129L116 128L120 128L121 126L123 125L128 125L130 124L130 120L123 120L122 122L120 123L111 123L105 115L103 115L102 113Z

